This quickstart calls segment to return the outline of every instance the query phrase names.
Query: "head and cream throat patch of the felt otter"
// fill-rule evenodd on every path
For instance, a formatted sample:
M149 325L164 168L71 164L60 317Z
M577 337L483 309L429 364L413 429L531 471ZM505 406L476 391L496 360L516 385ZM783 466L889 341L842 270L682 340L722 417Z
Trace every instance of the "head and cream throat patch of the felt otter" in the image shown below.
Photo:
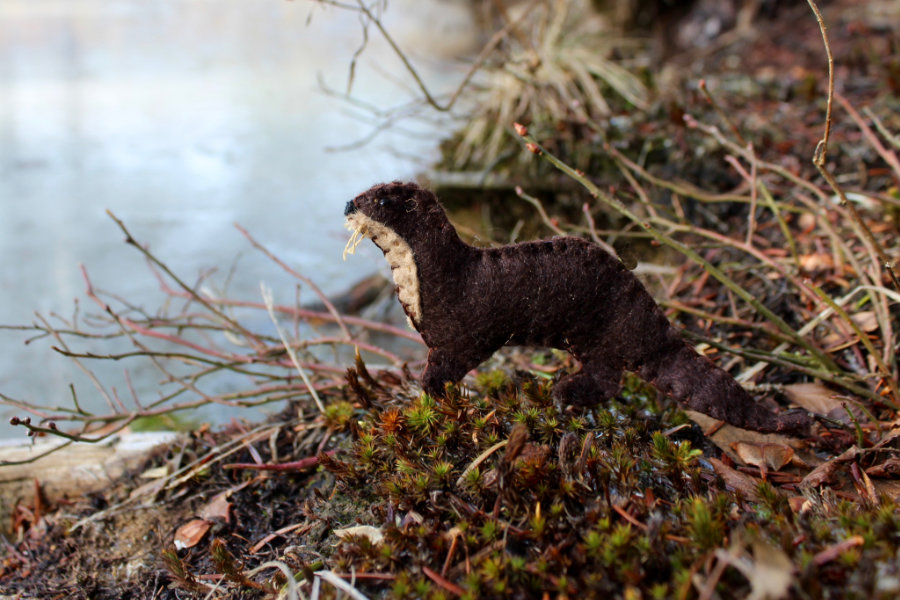
M352 231L344 258L353 254L369 238L384 252L391 266L397 296L415 327L421 322L422 304L414 250L415 240L429 237L435 210L446 221L434 194L414 183L376 185L347 203L344 209L347 229Z

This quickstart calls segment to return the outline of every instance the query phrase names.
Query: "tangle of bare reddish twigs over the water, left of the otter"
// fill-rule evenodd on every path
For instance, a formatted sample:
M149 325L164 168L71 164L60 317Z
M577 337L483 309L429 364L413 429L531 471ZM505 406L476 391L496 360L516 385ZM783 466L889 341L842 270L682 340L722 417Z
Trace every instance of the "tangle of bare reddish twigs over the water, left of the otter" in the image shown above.
M333 305L328 302L318 287L288 268L249 235L247 237L254 246L293 276L307 283L319 294L326 305L331 306L332 311L323 313L305 310L299 306L276 306L269 293L264 294L262 303L229 300L201 293L197 288L205 281L206 274L199 277L194 285L185 283L149 249L132 238L121 221L115 217L113 219L126 233L129 244L140 248L148 259L148 266L159 281L162 291L171 300L183 299L185 302L180 312L151 316L124 298L99 292L88 276L87 269L82 266L85 295L101 309L102 312L99 315L87 314L79 317L79 313L76 311L73 320L60 319L62 326L57 326L55 321L37 315L37 320L32 326L20 327L21 330L38 332L39 335L36 337L52 337L55 340L54 349L78 365L92 380L100 395L106 398L107 403L107 410L85 410L79 402L74 387L71 387L71 407L42 406L0 394L0 403L23 410L39 420L37 423L32 423L29 417L14 417L14 425L23 426L30 435L51 435L65 440L64 443L48 452L20 461L22 463L38 460L47 454L65 448L73 441L98 443L107 440L141 418L158 417L210 403L242 408L269 402L311 398L319 410L323 411L322 393L344 385L345 368L338 362L339 359L336 361L337 364L329 364L319 359L300 361L297 355L299 350L313 346L335 348L353 346L381 356L393 365L400 366L403 363L403 360L393 352L369 342L354 339L350 334L350 325L361 327L364 331L378 331L396 338L421 343L418 335L406 330L358 317L341 315L334 310ZM177 284L177 288L170 287L171 281ZM167 302L167 304L171 306L177 303ZM237 324L226 312L235 306L266 311L275 323L278 336L255 333L245 326ZM301 322L307 324L334 323L341 328L343 335L319 335L289 343L277 322L276 313L291 318L295 323L295 328ZM110 327L117 328L117 331L109 333ZM213 333L222 335L237 349L232 346L218 345L210 335ZM71 339L114 340L123 337L130 341L132 345L130 350L98 353L82 351L71 347L68 343ZM130 398L120 396L114 387L105 386L99 377L88 368L86 361L97 360L149 361L163 375L158 397L151 400L141 398L131 381L127 368L125 369L125 381ZM173 368L176 364L178 369ZM300 387L292 381L294 377L292 367L303 379L303 385ZM229 386L232 391L215 393L208 392L204 389L206 386L201 386L201 380L221 373L244 377L249 384L237 389ZM129 403L131 406L128 405ZM63 429L57 425L61 422L74 424L75 427Z

